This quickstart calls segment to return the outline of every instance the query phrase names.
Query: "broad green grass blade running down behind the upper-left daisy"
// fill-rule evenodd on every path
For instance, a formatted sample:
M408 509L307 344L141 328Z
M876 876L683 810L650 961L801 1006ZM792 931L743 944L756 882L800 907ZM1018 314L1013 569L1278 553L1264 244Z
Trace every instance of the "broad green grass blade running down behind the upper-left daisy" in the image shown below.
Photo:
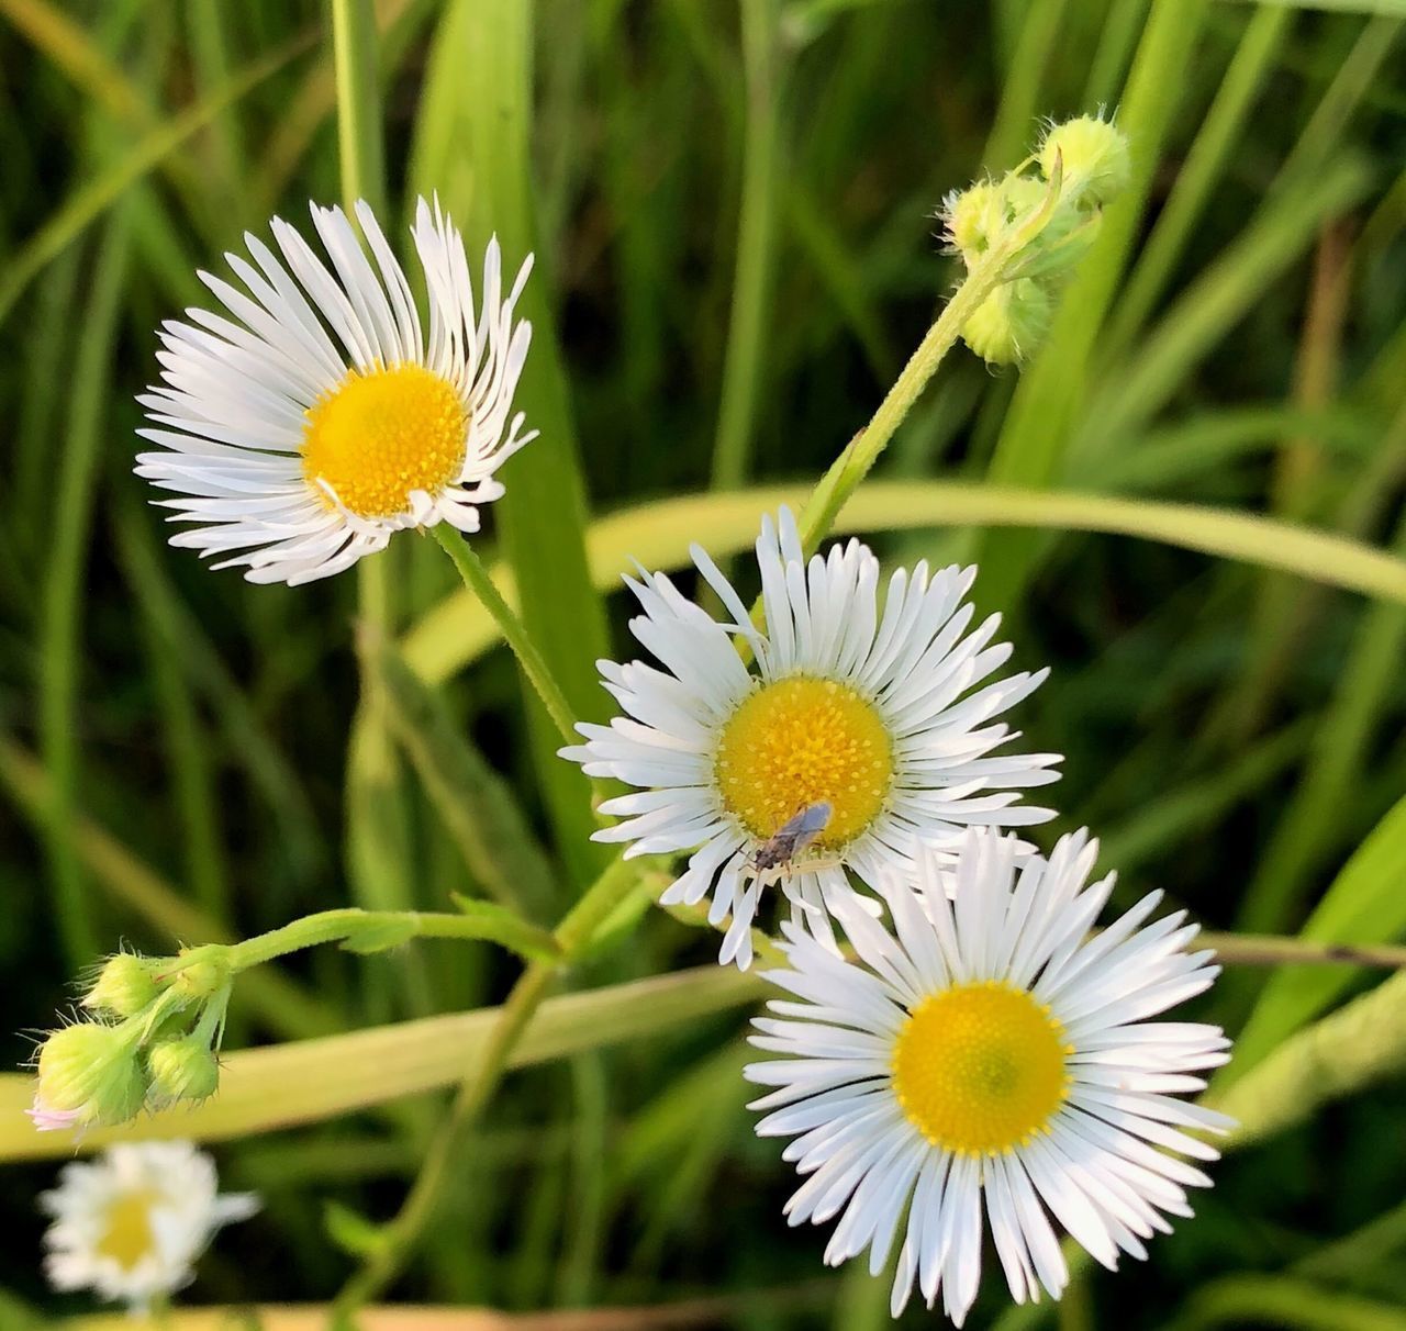
M498 235L509 281L541 243L519 306L531 320L533 344L515 402L541 433L503 468L508 493L492 517L527 631L576 714L595 720L609 703L595 669L606 654L606 621L586 572L585 486L550 304L554 238L538 238L533 214L531 18L524 0L454 0L446 8L430 49L411 174L416 188L437 191L471 253L481 254ZM527 707L561 853L578 881L589 881L605 863L589 839L596 826L589 783L557 758L560 738L530 692Z

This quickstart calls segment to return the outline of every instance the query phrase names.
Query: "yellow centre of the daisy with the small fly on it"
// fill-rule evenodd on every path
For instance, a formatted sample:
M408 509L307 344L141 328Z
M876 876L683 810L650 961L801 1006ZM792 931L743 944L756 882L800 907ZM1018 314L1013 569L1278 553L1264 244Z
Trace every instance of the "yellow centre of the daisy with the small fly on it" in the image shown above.
M893 744L873 704L848 684L799 676L758 689L733 713L713 774L727 811L763 839L827 801L830 822L815 845L835 849L883 808Z

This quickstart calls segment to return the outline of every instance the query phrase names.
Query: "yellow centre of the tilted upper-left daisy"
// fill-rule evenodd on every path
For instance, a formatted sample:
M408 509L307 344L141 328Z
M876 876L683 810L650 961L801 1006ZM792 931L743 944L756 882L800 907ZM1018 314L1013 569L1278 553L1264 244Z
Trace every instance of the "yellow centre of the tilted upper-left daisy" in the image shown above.
M437 495L464 465L468 412L423 365L353 370L307 412L302 475L357 517L394 517L412 491Z

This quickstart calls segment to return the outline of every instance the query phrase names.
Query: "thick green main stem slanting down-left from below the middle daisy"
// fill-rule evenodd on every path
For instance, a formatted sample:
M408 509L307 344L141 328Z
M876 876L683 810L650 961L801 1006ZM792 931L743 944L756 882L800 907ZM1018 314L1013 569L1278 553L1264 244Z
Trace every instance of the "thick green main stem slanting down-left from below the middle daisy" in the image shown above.
M522 1033L551 991L558 973L591 943L636 873L637 869L623 859L612 863L557 926L553 937L561 950L561 957L534 961L519 975L503 1004L488 1047L460 1081L449 1116L434 1134L405 1203L382 1231L382 1245L337 1296L332 1318L335 1327L349 1324L352 1314L380 1294L405 1266L419 1235L434 1216L450 1162L458 1155L479 1113L502 1082L509 1057Z

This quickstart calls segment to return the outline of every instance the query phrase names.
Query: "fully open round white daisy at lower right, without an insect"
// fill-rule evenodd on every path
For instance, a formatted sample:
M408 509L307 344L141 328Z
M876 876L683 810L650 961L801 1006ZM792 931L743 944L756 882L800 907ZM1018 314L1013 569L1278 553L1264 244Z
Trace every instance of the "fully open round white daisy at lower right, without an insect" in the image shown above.
M1017 863L1012 839L973 831L956 883L918 856L918 890L884 884L897 936L851 905L846 961L785 925L789 970L752 1043L780 1058L748 1079L752 1108L808 1175L792 1224L839 1217L838 1265L869 1249L879 1273L897 1241L891 1307L917 1283L960 1325L977 1293L983 1209L1011 1294L1059 1297L1069 1279L1052 1217L1105 1266L1189 1216L1209 1179L1177 1155L1215 1160L1192 1131L1223 1115L1175 1098L1229 1057L1215 1026L1147 1018L1205 989L1219 967L1188 953L1177 912L1143 926L1144 897L1088 936L1114 876L1085 888L1098 843L1063 838L1046 863ZM949 902L948 892L955 888ZM1177 1153L1177 1154L1171 1154Z

